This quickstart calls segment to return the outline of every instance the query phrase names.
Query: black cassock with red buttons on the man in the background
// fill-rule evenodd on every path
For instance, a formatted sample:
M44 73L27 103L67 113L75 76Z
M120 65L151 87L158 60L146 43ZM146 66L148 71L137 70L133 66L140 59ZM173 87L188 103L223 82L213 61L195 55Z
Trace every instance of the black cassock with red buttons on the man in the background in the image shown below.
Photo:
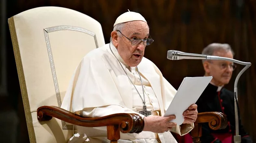
M213 136L213 134L226 134L232 136L235 134L235 115L234 115L234 93L226 88L221 88L217 92L217 86L208 84L200 98L197 100L198 113L217 111L226 114L228 118L228 126L225 129L211 130L208 123L202 125L202 143L221 143L221 141ZM212 134L213 133L213 134ZM241 135L241 143L252 143L251 137L245 132L239 118L239 135ZM233 140L233 137L232 137ZM232 141L233 142L233 141Z

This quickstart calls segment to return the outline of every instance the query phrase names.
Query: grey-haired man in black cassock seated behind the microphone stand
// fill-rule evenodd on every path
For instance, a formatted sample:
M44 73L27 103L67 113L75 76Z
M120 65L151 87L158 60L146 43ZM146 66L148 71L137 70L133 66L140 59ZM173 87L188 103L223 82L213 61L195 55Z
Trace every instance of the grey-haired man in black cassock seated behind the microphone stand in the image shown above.
M233 59L234 52L228 44L213 43L202 51L204 55L213 55ZM202 143L233 143L235 133L234 93L223 88L228 84L236 65L230 61L203 60L205 76L213 76L200 98L197 100L198 112L218 111L226 114L228 126L221 130L211 130L207 124L202 126ZM242 143L252 143L239 120L239 134Z

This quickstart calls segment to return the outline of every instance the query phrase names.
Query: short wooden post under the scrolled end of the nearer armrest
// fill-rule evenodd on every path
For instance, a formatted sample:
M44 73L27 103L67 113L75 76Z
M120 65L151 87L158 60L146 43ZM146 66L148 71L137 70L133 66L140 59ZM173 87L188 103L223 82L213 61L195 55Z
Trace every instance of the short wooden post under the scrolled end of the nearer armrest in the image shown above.
M107 126L108 140L110 143L117 143L120 139L120 128L119 126Z

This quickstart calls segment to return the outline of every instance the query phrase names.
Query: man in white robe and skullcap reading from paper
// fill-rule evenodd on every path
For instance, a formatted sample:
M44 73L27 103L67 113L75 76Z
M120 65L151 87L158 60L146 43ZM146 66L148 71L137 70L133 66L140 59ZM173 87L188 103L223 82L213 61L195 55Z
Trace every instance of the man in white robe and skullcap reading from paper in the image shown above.
M77 67L63 99L63 109L84 117L136 113L145 126L139 134L122 134L119 143L177 143L171 132L184 135L194 127L197 105L184 111L184 122L163 117L176 90L150 60L143 57L150 38L147 21L139 13L120 15L110 44L88 53ZM178 107L177 107L178 108ZM106 128L77 127L70 142L108 143Z

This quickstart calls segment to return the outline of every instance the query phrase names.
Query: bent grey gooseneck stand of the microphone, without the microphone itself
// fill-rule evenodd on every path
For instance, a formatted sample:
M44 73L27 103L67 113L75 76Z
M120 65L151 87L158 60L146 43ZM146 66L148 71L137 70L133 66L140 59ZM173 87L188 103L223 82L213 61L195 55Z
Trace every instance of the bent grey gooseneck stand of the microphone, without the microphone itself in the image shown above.
M240 76L243 74L243 72L248 69L252 63L249 62L242 62L235 59L225 58L225 57L218 57L218 56L206 56L206 59L209 60L223 60L223 61L231 61L233 63L238 63L241 65L245 65L245 67L239 72L239 74L236 76L236 80L234 82L234 110L235 110L235 125L236 125L236 134L234 135L234 143L241 143L241 135L239 135L239 117L238 117L238 94L237 94L237 84Z

